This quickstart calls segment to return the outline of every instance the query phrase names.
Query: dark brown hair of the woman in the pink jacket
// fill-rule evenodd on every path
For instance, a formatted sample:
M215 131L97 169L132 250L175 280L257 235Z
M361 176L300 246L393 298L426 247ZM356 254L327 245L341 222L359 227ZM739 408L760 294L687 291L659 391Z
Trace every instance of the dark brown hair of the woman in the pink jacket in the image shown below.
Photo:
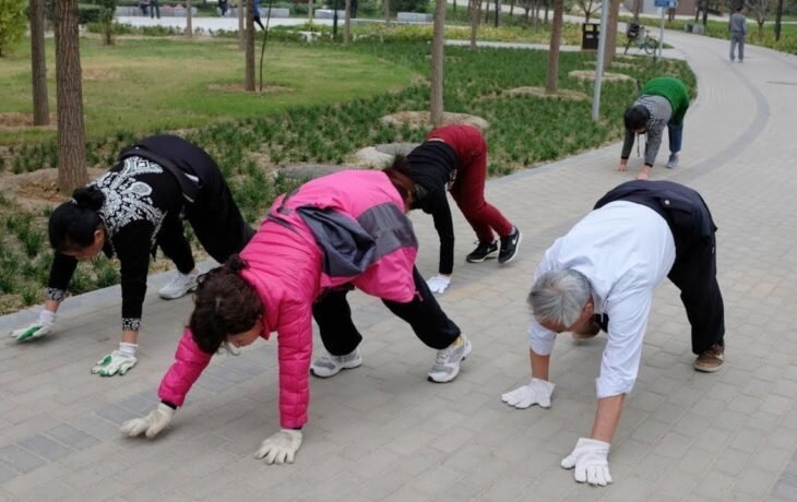
M194 309L189 327L197 346L205 354L214 354L227 340L254 327L265 311L260 295L240 276L246 268L239 255L199 277Z

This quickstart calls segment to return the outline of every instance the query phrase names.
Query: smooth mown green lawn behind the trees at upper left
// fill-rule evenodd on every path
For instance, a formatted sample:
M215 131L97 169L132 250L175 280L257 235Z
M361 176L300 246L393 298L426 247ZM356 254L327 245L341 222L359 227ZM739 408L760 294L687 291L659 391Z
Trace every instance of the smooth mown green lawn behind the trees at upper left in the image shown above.
M32 112L27 44L0 58L0 113ZM51 40L47 61L50 109L55 111ZM403 87L413 75L406 68L380 62L370 55L321 45L274 44L265 57L264 83L287 89L228 92L225 86L243 83L243 52L228 39L120 38L116 46L103 47L94 38L83 38L81 63L88 140L102 140L120 130L135 135L345 101ZM52 130L0 130L0 145L52 138Z

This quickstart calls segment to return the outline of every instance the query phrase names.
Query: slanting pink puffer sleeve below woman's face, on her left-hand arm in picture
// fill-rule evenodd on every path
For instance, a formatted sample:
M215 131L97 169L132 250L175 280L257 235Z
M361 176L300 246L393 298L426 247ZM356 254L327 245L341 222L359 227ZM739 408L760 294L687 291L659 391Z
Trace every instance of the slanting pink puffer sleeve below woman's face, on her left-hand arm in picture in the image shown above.
M211 362L213 356L205 354L197 346L188 327L182 332L180 343L177 344L175 362L160 381L157 395L176 406L182 406L186 395L191 386L200 378L202 371Z

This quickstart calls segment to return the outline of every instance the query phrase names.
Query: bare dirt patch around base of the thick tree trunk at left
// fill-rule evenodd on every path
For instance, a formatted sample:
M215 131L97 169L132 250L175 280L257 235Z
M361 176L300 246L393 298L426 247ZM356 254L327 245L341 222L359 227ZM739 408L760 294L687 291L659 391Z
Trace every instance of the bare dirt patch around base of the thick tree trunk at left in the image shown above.
M102 176L106 169L88 169L88 179ZM58 169L38 169L0 178L0 192L13 196L23 207L34 208L60 204L69 200L58 191Z

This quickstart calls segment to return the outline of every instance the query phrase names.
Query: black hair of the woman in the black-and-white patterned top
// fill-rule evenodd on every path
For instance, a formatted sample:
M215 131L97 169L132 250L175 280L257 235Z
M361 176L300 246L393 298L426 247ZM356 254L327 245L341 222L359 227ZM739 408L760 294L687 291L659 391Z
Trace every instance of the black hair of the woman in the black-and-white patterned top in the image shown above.
M95 186L79 188L72 200L56 207L48 225L50 246L59 252L79 251L94 242L94 232L103 226L99 208L105 194Z

